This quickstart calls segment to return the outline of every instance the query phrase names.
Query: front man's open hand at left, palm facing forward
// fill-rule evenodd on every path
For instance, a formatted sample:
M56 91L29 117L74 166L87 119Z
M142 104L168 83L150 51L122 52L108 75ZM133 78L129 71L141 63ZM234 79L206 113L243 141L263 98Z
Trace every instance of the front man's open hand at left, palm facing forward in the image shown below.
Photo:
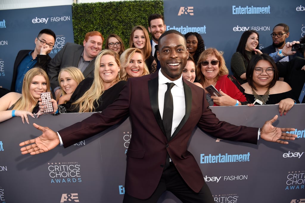
M35 139L21 142L19 144L20 147L30 144L20 149L21 154L40 154L42 152L54 149L58 144L60 144L59 137L56 132L49 129L48 127L37 125L36 123L33 123L33 126L38 130L41 130L42 134Z

